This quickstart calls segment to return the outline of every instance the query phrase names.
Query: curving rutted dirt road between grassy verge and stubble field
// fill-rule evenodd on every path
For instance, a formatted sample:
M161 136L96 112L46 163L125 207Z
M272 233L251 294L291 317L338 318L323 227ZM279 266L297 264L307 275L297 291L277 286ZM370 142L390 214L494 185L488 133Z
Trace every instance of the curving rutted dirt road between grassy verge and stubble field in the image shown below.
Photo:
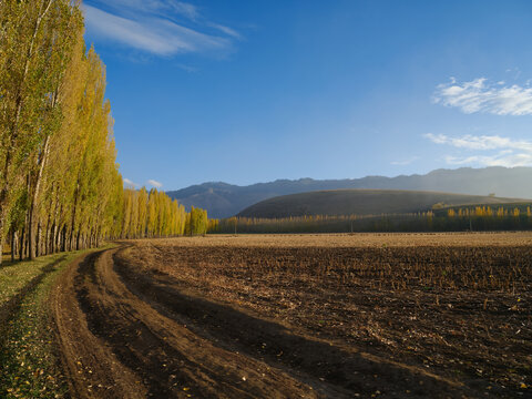
M74 398L462 398L461 382L296 332L121 257L78 259L51 297Z

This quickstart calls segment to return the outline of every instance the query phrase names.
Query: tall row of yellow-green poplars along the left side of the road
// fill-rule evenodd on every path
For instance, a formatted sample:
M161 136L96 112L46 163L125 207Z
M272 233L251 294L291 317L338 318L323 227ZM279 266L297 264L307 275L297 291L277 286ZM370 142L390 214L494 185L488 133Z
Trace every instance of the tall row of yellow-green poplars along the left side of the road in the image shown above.
M13 257L184 233L164 193L135 192L156 203L145 226L127 216L105 66L83 32L80 1L0 0L0 248Z

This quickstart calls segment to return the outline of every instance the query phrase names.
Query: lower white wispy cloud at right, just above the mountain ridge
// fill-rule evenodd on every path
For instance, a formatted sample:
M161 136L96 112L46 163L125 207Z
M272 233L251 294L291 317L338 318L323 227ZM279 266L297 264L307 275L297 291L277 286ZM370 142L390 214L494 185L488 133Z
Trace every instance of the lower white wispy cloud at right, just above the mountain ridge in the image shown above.
M449 145L469 154L446 155L450 165L481 166L530 166L532 165L532 142L513 140L499 135L471 135L451 137L444 134L424 134L424 137L436 144ZM482 152L479 154L478 152ZM471 153L477 152L477 153Z

